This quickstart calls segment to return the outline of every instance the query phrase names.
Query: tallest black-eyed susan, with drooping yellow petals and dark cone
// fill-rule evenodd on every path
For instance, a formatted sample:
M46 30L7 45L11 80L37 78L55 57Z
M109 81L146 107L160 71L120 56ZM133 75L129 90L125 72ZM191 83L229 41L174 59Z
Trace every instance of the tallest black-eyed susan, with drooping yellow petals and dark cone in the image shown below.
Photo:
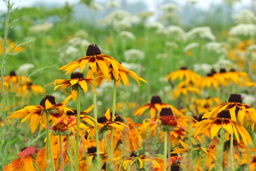
M66 74L68 74L80 67L81 72L83 72L87 64L89 69L89 75L87 74L87 76L93 76L93 74L96 73L97 77L102 75L104 75L104 77L108 77L108 67L110 64L112 64L114 68L115 75L118 76L118 68L122 68L122 66L114 58L101 54L100 48L98 48L96 44L91 44L88 46L86 56L74 62L70 62L58 70L64 70L64 72L66 71Z

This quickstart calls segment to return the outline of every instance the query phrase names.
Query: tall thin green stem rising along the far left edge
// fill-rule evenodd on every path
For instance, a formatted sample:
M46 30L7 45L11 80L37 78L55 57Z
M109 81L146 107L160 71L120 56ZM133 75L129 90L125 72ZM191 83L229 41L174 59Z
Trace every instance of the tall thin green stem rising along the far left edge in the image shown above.
M5 143L5 134L6 134L6 113L4 111L4 108L5 108L5 97L4 97L4 72L5 72L5 66L6 66L6 49L7 49L7 36L8 36L8 30L9 30L9 19L10 19L10 13L11 13L11 10L12 10L12 5L10 4L10 0L7 0L6 1L6 6L7 6L7 14L6 14L6 21L5 21L5 27L4 27L4 49L3 49L3 54L2 54L2 70L1 70L1 86L2 86L2 89L1 89L1 94L2 94L2 100L1 100L1 103L2 103L2 107L1 107L1 113L2 113L2 119L3 119L3 123L4 123L4 126L3 126L3 143ZM3 144L2 143L2 144ZM6 147L4 147L4 153L3 153L3 158L5 159L5 153L6 151Z

